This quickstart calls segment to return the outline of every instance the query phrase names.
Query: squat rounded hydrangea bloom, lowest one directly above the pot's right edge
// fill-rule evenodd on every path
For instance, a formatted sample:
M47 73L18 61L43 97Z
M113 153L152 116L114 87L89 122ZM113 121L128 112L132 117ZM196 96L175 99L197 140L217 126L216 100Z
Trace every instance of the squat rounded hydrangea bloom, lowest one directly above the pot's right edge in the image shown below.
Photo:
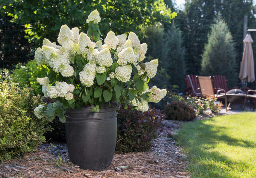
M115 70L115 78L122 82L127 82L131 78L132 66L119 66Z

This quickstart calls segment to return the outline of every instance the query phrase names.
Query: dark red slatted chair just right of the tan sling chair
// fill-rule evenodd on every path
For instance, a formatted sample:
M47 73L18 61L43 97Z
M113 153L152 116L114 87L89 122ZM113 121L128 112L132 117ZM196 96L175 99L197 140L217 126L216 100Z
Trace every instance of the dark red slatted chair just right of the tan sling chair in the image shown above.
M214 88L214 92L216 93L218 89L224 89L225 91L229 91L231 89L239 89L238 87L228 88L228 81L225 76L215 75L212 77L212 84Z

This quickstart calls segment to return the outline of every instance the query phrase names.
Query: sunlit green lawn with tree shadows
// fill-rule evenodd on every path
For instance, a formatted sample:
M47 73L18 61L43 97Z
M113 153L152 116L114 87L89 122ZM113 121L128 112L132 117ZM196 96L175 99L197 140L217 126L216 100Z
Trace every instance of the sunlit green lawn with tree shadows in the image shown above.
M256 113L184 123L176 140L193 178L256 178Z

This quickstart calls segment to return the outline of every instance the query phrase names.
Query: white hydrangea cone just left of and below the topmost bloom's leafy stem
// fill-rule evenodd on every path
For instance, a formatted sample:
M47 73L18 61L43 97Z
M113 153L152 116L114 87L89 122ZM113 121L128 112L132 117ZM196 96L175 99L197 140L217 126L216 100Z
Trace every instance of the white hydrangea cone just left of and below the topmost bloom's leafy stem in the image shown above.
M87 36L87 34L81 32L80 37L78 39L78 45L80 47L81 54L87 54L88 48L95 48L96 44L94 42L91 42L90 38Z

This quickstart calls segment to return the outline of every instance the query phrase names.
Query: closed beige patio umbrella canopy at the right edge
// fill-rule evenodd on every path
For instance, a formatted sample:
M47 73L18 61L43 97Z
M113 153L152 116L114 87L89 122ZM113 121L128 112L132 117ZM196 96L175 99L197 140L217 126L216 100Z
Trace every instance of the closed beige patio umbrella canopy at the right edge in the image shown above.
M244 38L244 54L242 58L242 64L240 67L239 78L247 82L253 82L255 80L254 73L254 57L253 57L253 39L250 33Z

